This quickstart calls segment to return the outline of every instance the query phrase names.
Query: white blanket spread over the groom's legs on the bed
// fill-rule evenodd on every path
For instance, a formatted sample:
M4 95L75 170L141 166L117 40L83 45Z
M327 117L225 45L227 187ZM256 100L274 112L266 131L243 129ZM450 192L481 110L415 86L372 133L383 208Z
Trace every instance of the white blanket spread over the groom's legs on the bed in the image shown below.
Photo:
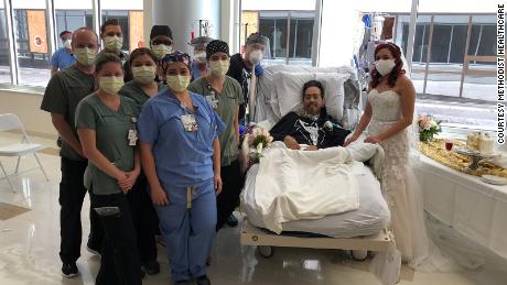
M269 230L281 233L282 222L320 219L359 208L358 183L348 150L292 151L274 143L262 155L256 202Z

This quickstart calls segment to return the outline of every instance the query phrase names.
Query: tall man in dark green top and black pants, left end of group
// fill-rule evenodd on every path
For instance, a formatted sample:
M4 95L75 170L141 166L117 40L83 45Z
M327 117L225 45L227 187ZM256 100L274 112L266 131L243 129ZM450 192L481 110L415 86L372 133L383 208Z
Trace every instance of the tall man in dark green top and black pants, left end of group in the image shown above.
M98 37L88 28L74 31L72 48L77 63L61 73L56 73L47 84L42 99L41 109L51 113L51 120L60 136L62 180L60 183L60 257L62 274L75 277L79 274L76 265L80 256L83 237L80 211L86 188L83 176L88 162L77 138L75 113L79 101L95 90L95 56L98 50ZM88 250L96 252L103 244L100 221L95 211L90 210L90 235Z

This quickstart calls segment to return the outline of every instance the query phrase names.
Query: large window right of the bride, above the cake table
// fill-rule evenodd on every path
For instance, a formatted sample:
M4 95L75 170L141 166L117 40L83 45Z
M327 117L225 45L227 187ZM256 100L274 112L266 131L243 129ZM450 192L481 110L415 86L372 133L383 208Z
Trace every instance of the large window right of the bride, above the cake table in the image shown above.
M495 19L493 14L418 15L411 79L419 113L431 113L452 127L495 125ZM402 30L397 43L406 53L409 15L400 14L397 21Z

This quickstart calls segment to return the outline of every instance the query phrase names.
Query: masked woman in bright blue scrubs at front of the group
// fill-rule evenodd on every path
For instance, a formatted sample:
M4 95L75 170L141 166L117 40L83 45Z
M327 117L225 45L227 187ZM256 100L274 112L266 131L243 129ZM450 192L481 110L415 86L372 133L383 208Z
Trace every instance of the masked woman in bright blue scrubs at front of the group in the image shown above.
M162 59L169 89L144 103L138 129L171 276L176 284L204 285L211 284L206 259L222 190L218 135L225 125L206 98L186 89L190 63L180 52Z

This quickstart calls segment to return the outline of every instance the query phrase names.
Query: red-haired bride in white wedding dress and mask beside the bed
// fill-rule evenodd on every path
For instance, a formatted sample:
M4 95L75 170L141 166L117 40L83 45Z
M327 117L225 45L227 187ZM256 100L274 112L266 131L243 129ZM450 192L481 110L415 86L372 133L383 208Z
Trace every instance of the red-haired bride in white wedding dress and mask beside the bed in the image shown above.
M404 75L401 51L397 45L378 45L375 61L365 112L345 145L357 140L368 128L365 142L380 144L386 154L381 188L391 211L391 230L402 261L416 270L447 271L447 260L428 239L422 195L409 167L409 132L416 89Z

